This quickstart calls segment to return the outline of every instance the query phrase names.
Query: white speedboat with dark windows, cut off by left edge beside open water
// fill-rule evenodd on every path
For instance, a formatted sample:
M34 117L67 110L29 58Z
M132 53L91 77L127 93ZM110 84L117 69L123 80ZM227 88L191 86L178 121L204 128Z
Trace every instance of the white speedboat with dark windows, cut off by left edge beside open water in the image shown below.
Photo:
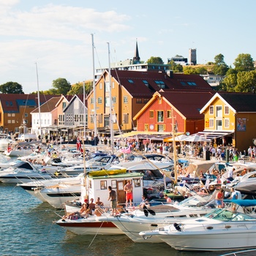
M37 170L30 162L20 161L7 169L0 171L0 181L3 183L23 183L34 179L49 179L50 174Z

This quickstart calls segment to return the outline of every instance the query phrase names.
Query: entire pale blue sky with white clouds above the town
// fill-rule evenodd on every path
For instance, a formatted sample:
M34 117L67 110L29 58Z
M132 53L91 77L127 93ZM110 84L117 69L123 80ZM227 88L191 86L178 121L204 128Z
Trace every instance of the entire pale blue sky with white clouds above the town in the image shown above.
M197 63L222 53L233 65L239 53L255 56L255 0L0 0L0 84L18 82L23 91L47 90L53 80L92 78L95 67L132 59L138 39L140 59L197 48Z

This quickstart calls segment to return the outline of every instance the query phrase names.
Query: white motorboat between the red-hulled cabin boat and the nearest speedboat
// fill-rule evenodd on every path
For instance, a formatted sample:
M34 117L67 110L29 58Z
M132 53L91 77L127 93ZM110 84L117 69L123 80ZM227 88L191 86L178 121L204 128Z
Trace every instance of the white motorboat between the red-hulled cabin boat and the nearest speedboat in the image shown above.
M157 236L151 239L143 239L142 236L139 236L139 233L147 229L152 230L157 227L164 227L184 219L202 217L211 212L212 208L215 208L212 200L207 203L207 200L203 199L203 197L195 195L178 204L159 203L158 205L150 206L150 208L129 209L128 214L120 214L118 217L104 214L98 219L105 222L113 222L116 227L136 243L162 243L163 241Z

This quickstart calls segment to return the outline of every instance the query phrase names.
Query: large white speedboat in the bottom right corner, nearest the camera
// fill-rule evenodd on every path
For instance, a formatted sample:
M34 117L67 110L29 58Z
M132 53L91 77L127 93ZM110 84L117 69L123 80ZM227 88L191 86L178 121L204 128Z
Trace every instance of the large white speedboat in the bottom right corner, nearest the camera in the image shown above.
M255 206L256 200L229 200L239 206ZM218 208L204 217L176 222L140 232L143 238L158 236L178 250L222 251L256 247L256 218Z

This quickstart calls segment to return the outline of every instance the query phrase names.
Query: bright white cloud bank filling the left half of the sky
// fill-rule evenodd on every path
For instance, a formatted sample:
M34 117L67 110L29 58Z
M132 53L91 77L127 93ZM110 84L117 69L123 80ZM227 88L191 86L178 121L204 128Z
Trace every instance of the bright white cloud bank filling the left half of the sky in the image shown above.
M70 83L91 78L91 33L100 42L104 33L130 29L129 16L115 11L54 4L21 11L14 7L18 2L0 0L0 67L5 74L0 84L18 82L26 92L36 90L35 62L40 90L49 89L56 78ZM105 42L98 46L107 52Z

